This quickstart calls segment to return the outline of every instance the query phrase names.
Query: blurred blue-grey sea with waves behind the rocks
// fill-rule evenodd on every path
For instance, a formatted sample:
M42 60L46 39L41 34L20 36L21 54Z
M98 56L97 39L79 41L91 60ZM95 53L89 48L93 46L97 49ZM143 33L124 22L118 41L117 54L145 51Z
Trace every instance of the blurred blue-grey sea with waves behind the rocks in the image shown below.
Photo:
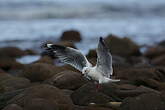
M0 0L0 47L36 49L72 29L83 51L108 34L151 45L165 39L164 18L164 0Z

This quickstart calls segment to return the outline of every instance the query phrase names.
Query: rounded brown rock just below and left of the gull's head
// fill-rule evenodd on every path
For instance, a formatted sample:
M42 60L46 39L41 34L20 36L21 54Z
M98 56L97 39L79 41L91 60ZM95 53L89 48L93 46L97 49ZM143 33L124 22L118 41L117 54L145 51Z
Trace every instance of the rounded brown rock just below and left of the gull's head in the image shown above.
M60 89L75 90L81 87L86 81L81 73L73 71L62 71L46 81Z

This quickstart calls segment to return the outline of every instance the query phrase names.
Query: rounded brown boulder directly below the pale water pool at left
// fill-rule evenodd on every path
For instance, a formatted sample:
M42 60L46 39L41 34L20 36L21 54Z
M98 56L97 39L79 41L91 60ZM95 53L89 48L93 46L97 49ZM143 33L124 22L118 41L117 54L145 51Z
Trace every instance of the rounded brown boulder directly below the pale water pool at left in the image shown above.
M46 63L26 65L20 76L30 79L32 82L44 81L58 73L55 67Z

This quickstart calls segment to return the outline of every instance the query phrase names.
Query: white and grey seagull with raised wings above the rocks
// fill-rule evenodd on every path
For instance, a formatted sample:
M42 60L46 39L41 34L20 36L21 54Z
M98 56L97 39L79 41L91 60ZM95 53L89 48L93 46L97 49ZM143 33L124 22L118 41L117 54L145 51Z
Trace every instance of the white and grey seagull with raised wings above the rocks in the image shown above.
M84 77L99 84L118 82L119 79L111 79L113 74L112 55L105 45L104 39L100 37L97 47L97 64L93 66L81 53L80 50L55 44L46 44L46 50L57 57L62 63L69 64L82 72Z

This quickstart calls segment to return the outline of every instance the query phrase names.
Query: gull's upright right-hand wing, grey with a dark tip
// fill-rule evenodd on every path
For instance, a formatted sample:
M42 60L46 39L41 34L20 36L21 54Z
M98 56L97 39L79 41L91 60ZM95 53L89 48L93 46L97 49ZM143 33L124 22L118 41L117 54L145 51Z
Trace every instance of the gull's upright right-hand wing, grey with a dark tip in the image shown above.
M105 42L102 37L100 37L98 48L97 48L97 70L110 78L110 75L113 73L112 68L112 56L108 51L108 48L105 45Z

